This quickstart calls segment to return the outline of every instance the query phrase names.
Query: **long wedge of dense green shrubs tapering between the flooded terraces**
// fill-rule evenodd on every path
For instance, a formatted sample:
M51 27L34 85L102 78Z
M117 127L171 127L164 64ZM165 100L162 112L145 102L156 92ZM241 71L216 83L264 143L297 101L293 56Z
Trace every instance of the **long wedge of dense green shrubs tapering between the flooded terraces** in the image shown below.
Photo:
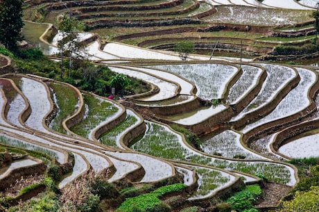
M13 60L13 67L19 73L37 74L39 76L58 79L70 83L82 90L94 92L97 95L107 97L116 88L116 94L132 95L147 92L150 85L135 78L128 78L123 74L112 72L106 66L96 66L85 60L76 60L72 63L71 72L69 60L62 60L62 77L60 63L46 58L39 49L24 49L12 53L4 47L0 47L0 54L9 56Z

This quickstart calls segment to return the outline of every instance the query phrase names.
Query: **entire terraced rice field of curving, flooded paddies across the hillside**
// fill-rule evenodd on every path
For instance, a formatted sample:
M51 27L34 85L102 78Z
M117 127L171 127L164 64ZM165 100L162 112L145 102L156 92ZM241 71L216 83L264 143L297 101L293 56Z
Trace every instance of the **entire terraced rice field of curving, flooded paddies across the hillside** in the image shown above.
M249 25L247 31L261 23L293 25L297 18L309 20L313 2L291 1L288 6L270 0L122 4L43 1L39 8L50 11L46 21L69 12L85 22L90 32L103 38L94 38L87 44L89 60L153 84L158 92L111 100L40 76L3 75L3 148L42 152L51 158L46 166L67 166L73 161L71 170L58 182L60 189L90 170L96 174L107 172L107 181L114 184L160 185L178 181L189 186L184 203L198 206L229 188L235 189L243 182L258 183L263 177L270 183L293 188L298 183L297 170L284 160L304 157L298 152L300 148L309 148L309 142L318 146L309 141L316 138L318 128L318 118L313 115L319 106L318 70L311 66L243 62L242 58L196 54L182 60L176 52L162 50L172 49L175 42L185 38L182 33L188 33L187 38L196 41L197 50L203 47L200 44L214 39L221 41L215 46L220 50L229 48L238 53L242 45L247 51L255 45L258 50L254 51L261 54L261 49L272 49L274 45L258 43L258 33L244 40L245 30L233 28L242 33L242 39L220 38L218 32L207 37L207 32L214 31L209 24ZM26 11L33 13L26 17L36 19L39 8L31 5ZM263 13L254 18L255 22L246 23L239 17L239 8L244 8L245 13ZM258 19L270 13L274 17L270 22ZM110 27L110 32L103 33L106 27ZM268 31L268 26L261 27ZM123 28L127 30L121 31ZM153 30L139 32L141 28ZM172 35L171 39L166 40L168 35ZM92 33L81 34L83 40L91 38ZM46 54L56 52L59 39L58 33L51 42L46 41L46 47L54 50L45 51ZM101 47L105 40L150 49L119 42ZM210 51L213 46L209 45ZM309 126L313 131L309 132ZM187 136L173 130L181 128L198 136L200 142L189 142ZM31 170L41 163L38 162L33 158L11 163L7 172L0 173L0 180L17 170L17 164Z

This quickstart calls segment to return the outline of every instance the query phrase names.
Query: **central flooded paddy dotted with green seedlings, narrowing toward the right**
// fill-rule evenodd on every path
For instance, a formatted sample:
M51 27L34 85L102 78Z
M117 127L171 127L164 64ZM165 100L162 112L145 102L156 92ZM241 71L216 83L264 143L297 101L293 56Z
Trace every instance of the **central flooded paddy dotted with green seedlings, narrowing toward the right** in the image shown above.
M212 156L198 154L190 147L183 145L182 138L168 127L147 122L148 129L141 140L132 145L137 152L144 152L153 156L178 161L188 161L202 165L211 165L216 168L237 170L255 175L264 174L272 182L288 183L291 172L285 165L268 162L227 161Z

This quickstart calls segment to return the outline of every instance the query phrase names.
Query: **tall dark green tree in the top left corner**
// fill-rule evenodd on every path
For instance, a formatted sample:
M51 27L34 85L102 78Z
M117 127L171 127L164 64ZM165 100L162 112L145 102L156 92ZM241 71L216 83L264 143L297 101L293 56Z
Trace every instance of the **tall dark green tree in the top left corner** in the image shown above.
M10 51L17 51L23 26L22 1L0 0L0 42Z

